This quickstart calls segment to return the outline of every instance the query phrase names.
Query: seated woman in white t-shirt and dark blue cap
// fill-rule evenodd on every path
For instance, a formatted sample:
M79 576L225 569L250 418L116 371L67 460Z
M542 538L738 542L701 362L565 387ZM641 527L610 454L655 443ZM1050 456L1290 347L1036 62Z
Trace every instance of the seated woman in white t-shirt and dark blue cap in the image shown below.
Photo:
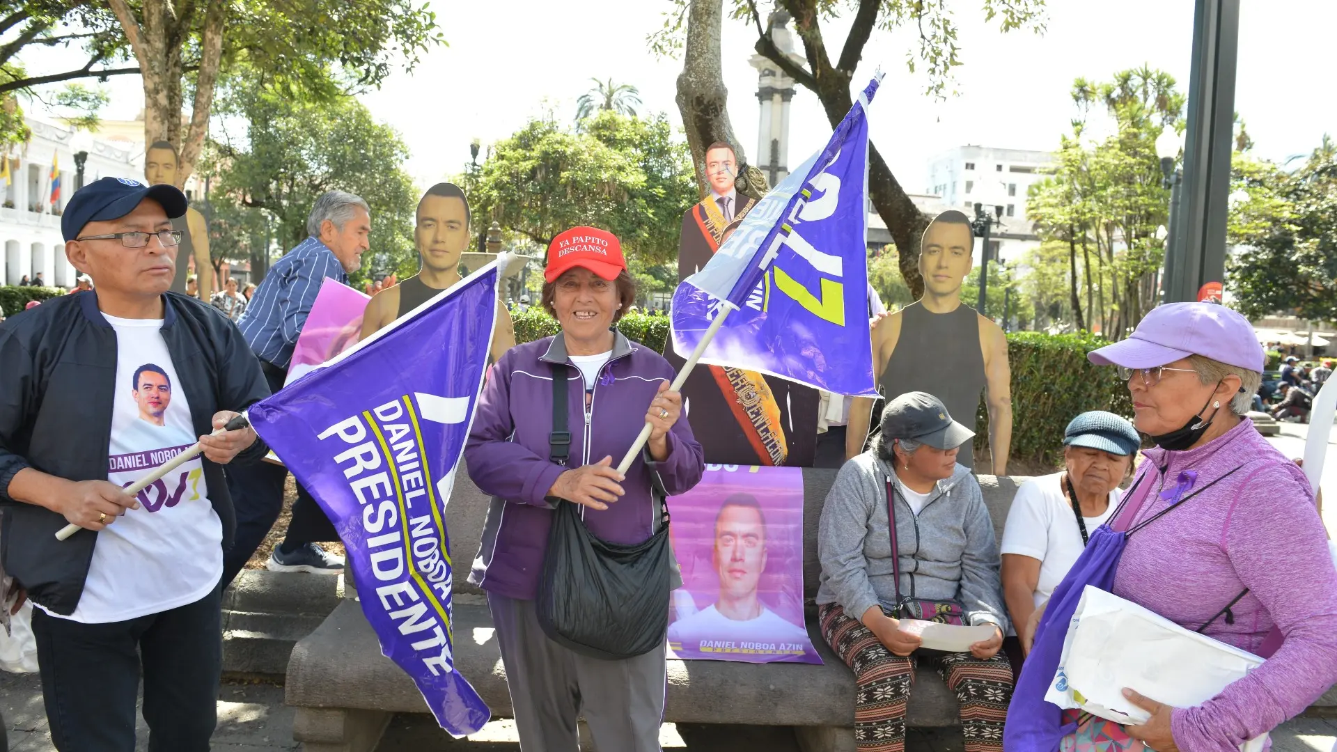
M1126 419L1100 409L1083 412L1063 432L1063 472L1032 478L1016 490L999 549L1003 597L1023 654L1031 652L1031 614L1050 599L1091 533L1119 506L1119 483L1140 446Z

